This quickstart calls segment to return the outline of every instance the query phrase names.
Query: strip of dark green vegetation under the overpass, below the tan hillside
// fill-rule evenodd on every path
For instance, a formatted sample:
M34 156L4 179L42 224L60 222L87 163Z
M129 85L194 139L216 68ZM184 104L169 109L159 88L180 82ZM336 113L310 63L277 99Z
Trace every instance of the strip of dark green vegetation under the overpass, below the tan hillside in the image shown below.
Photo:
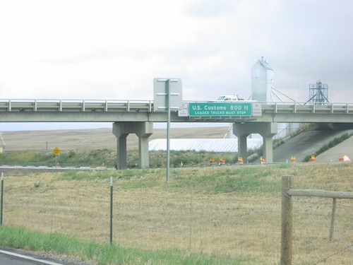
M251 151L249 152L251 153ZM167 152L150 151L150 167L165 167L167 164ZM52 152L44 151L16 151L0 153L0 164L2 165L46 165L54 166L59 163L61 167L105 167L116 166L116 151L108 149L97 149L90 151L62 151L56 156ZM237 163L237 154L226 152L206 152L206 151L171 151L170 165L180 167L181 165L208 165L210 158L219 163L224 159L227 164ZM131 167L138 167L138 151L127 153L126 163Z

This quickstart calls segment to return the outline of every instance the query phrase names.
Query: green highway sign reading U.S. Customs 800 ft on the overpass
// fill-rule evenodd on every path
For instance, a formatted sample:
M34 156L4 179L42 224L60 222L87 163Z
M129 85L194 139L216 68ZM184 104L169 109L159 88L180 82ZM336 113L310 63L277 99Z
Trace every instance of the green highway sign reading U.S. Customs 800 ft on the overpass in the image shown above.
M189 102L189 117L251 117L251 102Z

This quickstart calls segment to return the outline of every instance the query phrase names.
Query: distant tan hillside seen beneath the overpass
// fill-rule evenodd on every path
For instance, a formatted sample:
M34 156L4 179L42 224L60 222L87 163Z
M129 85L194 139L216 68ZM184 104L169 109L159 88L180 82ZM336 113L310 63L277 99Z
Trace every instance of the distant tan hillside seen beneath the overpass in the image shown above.
M172 139L208 139L223 138L227 133L227 127L207 128L172 128ZM52 151L59 147L62 151L68 150L93 150L107 148L116 149L116 137L110 128L102 129L72 129L72 130L48 130L48 131L3 131L2 136L6 143L5 151L37 150ZM154 129L150 136L153 139L165 139L166 129ZM138 138L130 134L127 139L129 150L138 149Z

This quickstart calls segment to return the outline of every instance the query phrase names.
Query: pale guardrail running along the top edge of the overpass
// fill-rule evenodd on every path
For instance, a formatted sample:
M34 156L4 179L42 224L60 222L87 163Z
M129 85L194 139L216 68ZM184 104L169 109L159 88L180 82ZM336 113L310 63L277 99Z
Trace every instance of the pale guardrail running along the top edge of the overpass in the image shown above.
M262 112L266 114L353 114L353 103L322 105L313 102L260 103ZM152 110L153 100L0 100L0 112L152 112Z

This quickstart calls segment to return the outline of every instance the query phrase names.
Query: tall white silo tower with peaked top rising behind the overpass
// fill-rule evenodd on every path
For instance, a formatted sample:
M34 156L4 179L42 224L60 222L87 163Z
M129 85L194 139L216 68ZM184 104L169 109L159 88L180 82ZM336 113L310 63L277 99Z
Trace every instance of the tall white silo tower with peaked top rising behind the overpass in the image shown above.
M259 59L251 68L251 98L262 102L273 102L271 96L273 82L273 68L268 61Z

